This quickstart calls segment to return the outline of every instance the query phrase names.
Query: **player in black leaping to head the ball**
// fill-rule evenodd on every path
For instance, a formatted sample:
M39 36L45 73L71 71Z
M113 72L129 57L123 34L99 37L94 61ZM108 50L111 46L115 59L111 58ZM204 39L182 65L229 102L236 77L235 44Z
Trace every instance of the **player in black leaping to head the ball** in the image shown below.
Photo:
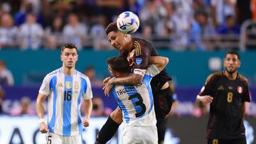
M118 30L117 23L110 23L106 28L106 34L111 45L119 50L120 55L127 57L133 73L127 77L106 78L104 80L105 87L103 87L105 94L108 94L114 85L140 84L146 69L149 67L149 57L159 55L156 48L149 41L122 33ZM165 70L162 70L151 80L158 131L161 122L171 110L172 92L169 87L169 80L171 77ZM122 123L122 111L115 109L105 125L102 126L95 143L107 143L117 131L120 123ZM164 138L164 136L159 137ZM159 139L159 141L164 140Z

